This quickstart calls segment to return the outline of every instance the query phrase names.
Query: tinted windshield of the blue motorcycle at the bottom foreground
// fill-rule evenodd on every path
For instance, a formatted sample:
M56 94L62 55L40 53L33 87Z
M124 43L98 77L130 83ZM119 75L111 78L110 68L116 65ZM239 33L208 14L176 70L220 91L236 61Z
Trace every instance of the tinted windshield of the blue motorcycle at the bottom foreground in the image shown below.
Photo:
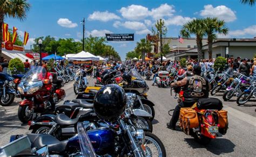
M92 147L91 141L87 132L81 122L77 124L77 133L79 138L79 144L83 156L96 156L95 151Z

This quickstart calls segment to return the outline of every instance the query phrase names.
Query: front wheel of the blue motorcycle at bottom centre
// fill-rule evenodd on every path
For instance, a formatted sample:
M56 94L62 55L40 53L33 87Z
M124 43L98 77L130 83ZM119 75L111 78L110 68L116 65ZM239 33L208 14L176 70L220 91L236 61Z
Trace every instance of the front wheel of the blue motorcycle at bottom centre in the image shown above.
M146 156L151 156L152 154L156 154L156 156L165 157L166 151L163 142L154 134L145 132L145 141L143 145L146 148ZM152 149L150 149L147 145L155 145L158 153L152 153Z

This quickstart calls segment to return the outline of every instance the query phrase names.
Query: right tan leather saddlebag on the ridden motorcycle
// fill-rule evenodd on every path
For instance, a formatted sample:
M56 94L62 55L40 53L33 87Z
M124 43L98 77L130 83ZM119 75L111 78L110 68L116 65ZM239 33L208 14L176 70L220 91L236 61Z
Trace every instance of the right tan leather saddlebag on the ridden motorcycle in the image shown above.
M219 132L221 134L226 134L228 129L228 120L227 120L226 110L218 111L218 124L219 124Z

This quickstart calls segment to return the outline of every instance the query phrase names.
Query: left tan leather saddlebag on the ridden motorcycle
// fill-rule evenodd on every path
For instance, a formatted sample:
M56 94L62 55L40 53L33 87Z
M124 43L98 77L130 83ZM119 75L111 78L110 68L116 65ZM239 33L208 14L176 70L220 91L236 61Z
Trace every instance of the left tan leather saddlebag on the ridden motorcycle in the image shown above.
M190 107L180 109L180 128L189 134L189 128L195 128L199 126L197 112Z

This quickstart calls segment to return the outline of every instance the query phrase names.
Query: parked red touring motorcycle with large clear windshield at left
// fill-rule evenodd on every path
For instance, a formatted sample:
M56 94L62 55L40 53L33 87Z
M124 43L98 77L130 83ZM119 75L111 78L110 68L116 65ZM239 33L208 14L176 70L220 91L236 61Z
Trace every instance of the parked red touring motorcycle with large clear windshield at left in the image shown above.
M46 70L42 66L33 67L26 73L18 85L22 101L19 103L18 118L26 123L33 115L47 114L55 110L55 105L65 98L62 79L52 73L50 79L44 79Z

